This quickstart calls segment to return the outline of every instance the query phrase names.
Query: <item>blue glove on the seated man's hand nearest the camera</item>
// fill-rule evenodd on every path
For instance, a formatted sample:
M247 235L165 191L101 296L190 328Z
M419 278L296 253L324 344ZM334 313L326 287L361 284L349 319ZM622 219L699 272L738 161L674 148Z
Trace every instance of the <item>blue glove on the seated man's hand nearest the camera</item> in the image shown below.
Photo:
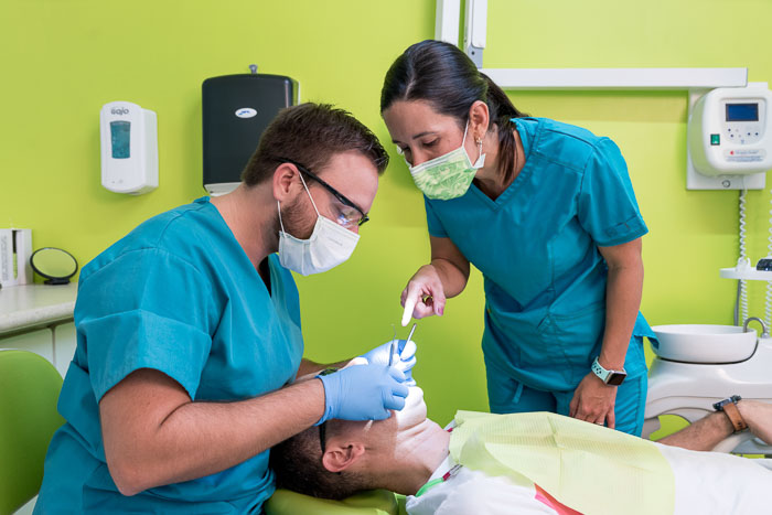
M331 418L383 420L392 416L389 409L405 407L405 374L394 366L352 365L317 377L324 385L324 415L317 426Z

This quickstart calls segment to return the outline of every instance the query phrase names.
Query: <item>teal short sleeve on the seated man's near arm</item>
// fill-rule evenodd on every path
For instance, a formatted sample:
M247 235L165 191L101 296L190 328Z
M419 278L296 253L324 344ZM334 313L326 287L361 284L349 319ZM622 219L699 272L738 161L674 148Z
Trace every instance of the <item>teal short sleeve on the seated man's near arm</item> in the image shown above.
M195 267L160 249L127 253L89 276L76 311L97 403L139 368L162 372L195 399L216 323L212 298Z

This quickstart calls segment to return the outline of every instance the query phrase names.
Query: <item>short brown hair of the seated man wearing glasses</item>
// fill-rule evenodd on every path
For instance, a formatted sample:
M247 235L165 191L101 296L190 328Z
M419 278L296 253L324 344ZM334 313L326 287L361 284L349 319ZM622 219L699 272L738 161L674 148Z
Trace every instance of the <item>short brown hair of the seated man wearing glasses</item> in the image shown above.
M388 154L378 138L351 112L330 104L307 103L279 111L260 137L257 150L242 172L242 181L254 186L272 176L291 159L312 171L323 169L340 152L355 150L384 173Z

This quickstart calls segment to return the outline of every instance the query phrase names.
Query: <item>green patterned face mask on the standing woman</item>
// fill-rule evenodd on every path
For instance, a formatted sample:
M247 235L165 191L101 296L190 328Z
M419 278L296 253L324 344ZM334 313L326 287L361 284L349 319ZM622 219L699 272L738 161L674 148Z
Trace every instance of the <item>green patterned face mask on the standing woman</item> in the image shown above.
M482 153L482 143L480 144L480 157L478 161L472 164L472 160L469 159L469 154L464 148L468 129L469 121L463 131L461 147L458 149L451 150L439 158L422 162L417 167L410 167L408 163L412 181L427 197L448 201L463 196L467 190L469 190L470 184L472 184L472 179L474 179L478 169L482 168L485 163L485 154Z

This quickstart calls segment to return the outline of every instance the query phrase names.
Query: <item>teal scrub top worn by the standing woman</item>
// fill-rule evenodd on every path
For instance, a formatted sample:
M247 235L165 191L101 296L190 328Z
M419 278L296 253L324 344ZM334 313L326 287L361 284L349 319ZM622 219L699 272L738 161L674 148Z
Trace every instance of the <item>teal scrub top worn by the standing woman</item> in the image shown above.
M545 118L513 121L521 173L495 201L474 184L459 199L425 197L429 234L450 238L484 276L486 362L526 386L570 390L603 339L608 268L598 246L648 229L613 141ZM653 336L641 313L633 336ZM640 350L629 350L625 369L645 374Z

